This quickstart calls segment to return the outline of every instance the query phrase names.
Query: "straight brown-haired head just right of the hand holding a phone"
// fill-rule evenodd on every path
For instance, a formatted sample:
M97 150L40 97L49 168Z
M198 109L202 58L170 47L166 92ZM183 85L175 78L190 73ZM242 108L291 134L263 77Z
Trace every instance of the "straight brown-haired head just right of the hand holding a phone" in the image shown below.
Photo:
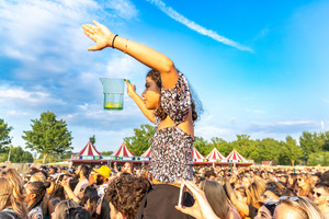
M205 180L198 187L205 193L214 212L219 218L227 218L230 203L223 186L216 181Z

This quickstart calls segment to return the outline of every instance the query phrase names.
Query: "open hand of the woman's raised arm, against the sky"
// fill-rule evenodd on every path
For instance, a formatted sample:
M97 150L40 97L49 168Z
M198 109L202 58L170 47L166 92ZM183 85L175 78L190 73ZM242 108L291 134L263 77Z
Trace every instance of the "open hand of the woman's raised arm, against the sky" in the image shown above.
M83 33L97 43L95 46L91 46L88 50L102 50L105 47L112 46L112 39L115 36L106 26L93 21L92 24L82 25Z

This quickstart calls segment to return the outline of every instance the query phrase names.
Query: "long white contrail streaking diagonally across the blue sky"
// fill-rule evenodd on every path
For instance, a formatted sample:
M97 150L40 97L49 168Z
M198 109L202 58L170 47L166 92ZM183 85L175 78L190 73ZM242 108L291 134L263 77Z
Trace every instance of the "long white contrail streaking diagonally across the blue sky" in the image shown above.
M229 38L226 38L225 36L220 36L218 35L216 32L212 31L212 30L207 30L198 24L196 24L193 21L190 21L189 19L186 19L185 16L183 16L182 14L178 13L177 11L174 11L172 8L167 7L164 2L162 2L161 0L147 0L151 3L154 3L156 7L158 7L162 12L164 12L168 16L170 16L171 19L180 22L181 24L184 24L185 26L188 26L189 28L196 31L197 33L208 36L217 42L220 42L223 44L226 44L228 46L232 46L236 47L237 49L240 50L247 50L247 51L251 51L252 49L243 46L237 42L234 42Z

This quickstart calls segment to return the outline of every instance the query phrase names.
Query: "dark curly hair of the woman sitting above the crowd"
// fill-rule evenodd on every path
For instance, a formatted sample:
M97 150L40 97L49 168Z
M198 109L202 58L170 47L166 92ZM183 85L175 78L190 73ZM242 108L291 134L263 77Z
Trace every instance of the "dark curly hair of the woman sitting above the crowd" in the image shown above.
M156 82L157 87L159 89L162 88L162 81L161 81L161 74L159 71L151 69L146 77L149 77L152 79L152 81ZM203 107L202 107L202 103L201 101L197 99L196 94L194 92L192 92L192 88L190 85L190 90L191 93L193 93L192 95L192 120L195 122L197 119L197 112L196 112L196 105L195 102L197 102L197 106L198 106L198 114L201 114L203 112ZM159 107L156 111L156 116L160 117L161 120L163 120L167 117L167 113L163 111L163 108L161 107L161 104L159 105Z

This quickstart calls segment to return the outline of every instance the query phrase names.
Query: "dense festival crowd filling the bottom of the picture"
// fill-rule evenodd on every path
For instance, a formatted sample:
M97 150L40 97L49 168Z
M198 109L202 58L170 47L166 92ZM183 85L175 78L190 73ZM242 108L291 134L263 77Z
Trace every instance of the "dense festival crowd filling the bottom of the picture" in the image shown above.
M181 207L179 196L173 198L174 208L158 206L163 201L157 199L168 200L167 187L155 187L148 170L129 162L113 168L32 165L24 174L3 169L0 184L1 219L171 218L161 210L201 219L329 218L329 171L315 168L194 166L193 181L175 182L185 192ZM163 189L163 196L154 197L154 189ZM159 210L146 211L147 201Z

